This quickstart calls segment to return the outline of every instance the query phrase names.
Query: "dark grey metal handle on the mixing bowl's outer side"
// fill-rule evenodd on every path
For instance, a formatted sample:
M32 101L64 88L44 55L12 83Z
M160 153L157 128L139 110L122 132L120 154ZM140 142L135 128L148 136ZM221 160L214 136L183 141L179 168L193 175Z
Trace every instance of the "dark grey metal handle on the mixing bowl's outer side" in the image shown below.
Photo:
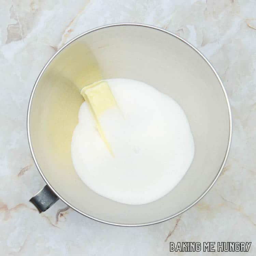
M35 205L39 213L45 212L50 208L59 198L53 193L51 188L47 185L35 194L29 201Z

